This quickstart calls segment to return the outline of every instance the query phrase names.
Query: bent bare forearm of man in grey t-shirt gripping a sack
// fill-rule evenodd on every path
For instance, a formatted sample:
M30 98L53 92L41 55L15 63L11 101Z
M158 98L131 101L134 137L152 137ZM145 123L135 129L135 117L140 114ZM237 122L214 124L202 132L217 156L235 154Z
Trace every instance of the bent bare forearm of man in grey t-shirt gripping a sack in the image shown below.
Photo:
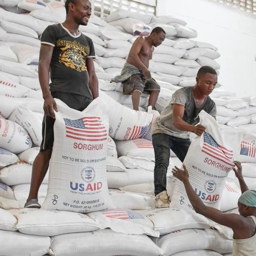
M199 124L197 126L193 126L191 124L188 124L182 120L182 117L184 115L185 107L180 104L173 104L172 108L172 122L173 125L182 131L187 131L187 132L193 132L196 135L201 135L205 128Z

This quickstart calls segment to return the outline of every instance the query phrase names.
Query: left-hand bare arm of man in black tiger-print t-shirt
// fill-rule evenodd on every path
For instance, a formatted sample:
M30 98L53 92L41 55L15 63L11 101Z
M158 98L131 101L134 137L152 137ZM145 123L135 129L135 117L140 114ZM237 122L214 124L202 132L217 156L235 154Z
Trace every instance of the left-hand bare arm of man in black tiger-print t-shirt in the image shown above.
M49 44L41 44L40 53L39 53L39 67L38 75L39 82L42 89L42 94L44 98L44 113L47 116L55 118L53 109L57 110L56 102L54 101L52 95L50 94L49 89L49 71L50 71L50 62L52 60L54 47Z

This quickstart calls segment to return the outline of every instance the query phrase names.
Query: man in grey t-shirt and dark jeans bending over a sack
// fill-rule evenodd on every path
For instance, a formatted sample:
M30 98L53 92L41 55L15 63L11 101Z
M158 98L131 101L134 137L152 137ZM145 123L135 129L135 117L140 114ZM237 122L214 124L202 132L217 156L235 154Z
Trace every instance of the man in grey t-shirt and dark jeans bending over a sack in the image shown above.
M169 166L170 149L182 162L190 146L189 133L200 136L205 128L197 125L198 114L204 110L216 116L215 103L209 94L217 84L217 73L210 66L198 70L196 85L178 89L169 105L156 118L152 127L152 142L155 151L154 185L156 207L169 207L166 192L166 173Z

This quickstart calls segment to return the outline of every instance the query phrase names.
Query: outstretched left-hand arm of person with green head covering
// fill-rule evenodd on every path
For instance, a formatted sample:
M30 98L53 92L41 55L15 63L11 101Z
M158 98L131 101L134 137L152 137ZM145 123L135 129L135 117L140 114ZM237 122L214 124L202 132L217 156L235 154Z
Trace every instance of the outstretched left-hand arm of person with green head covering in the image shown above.
M172 169L172 172L173 172L174 177L178 178L179 180L181 180L184 183L188 199L190 200L190 203L192 204L195 212L202 214L205 217L207 217L221 225L228 226L229 228L232 228L233 230L240 228L240 226L243 223L244 217L242 217L238 214L233 214L233 213L229 213L229 214L223 213L218 209L204 205L204 203L197 196L196 192L193 190L193 188L189 182L188 171L184 164L183 164L183 168L184 168L184 170L181 170L177 166L175 166L175 169Z

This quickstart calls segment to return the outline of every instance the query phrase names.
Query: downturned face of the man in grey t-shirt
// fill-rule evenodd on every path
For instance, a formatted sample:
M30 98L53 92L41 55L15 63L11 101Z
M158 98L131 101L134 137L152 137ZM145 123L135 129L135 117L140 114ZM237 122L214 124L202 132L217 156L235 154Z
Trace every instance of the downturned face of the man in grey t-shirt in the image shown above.
M217 84L217 75L206 73L196 78L198 88L203 95L209 95Z

